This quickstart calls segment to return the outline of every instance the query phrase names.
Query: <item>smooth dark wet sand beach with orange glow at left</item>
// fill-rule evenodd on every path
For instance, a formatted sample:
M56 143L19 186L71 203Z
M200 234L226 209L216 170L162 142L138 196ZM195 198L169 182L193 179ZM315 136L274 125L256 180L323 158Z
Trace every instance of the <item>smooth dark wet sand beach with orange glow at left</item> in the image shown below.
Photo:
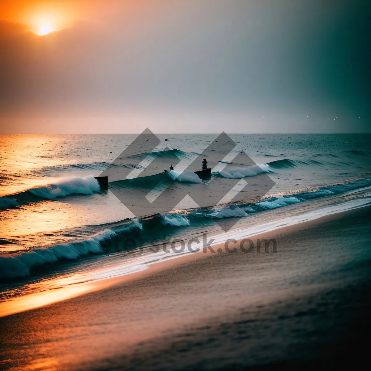
M357 367L370 329L370 221L370 207L335 214L266 234L278 241L276 253L196 253L109 288L0 318L0 365Z

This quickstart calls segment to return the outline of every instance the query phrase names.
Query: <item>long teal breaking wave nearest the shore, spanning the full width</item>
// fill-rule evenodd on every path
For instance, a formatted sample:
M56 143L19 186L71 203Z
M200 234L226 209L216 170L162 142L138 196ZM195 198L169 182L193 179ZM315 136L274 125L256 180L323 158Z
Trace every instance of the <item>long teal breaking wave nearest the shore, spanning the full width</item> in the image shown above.
M125 219L116 223L84 227L73 233L76 237L65 244L35 247L27 252L0 255L0 280L7 281L33 274L35 267L55 265L62 260L75 260L91 254L115 253L145 246L177 234L180 228L208 226L224 218L249 217L266 210L277 209L315 198L371 187L371 179L312 188L295 194L267 197L256 203L229 205L206 209L155 214L141 220ZM60 231L65 235L65 231ZM129 241L129 243L128 243ZM125 242L125 243L124 243ZM4 245L3 245L4 246Z

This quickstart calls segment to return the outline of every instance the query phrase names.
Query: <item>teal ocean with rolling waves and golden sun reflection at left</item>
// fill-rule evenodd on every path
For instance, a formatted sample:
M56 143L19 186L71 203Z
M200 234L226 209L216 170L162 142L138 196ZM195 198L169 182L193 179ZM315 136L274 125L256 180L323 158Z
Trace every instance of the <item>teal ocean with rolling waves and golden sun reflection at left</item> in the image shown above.
M267 193L256 193L253 200L245 192L233 205L216 205L202 196L201 206L189 198L180 204L180 190L182 195L201 194L211 182L195 178L193 171L200 167L184 170L185 165L181 165L197 159L217 135L158 134L161 143L152 153L138 149L135 156L139 161L153 156L161 159L161 165L152 168L149 175L144 170L139 178L128 181L122 171L144 169L133 165L132 156L120 158L136 137L0 137L2 315L65 298L48 297L24 307L27 295L122 277L191 253L182 247L191 239L212 240L212 249L227 239L237 240L371 203L368 134L230 134L236 153L244 151L254 164L234 163L232 158L232 167L223 170L224 155L210 155L211 180L217 179L220 185L214 191L217 198L222 199L224 188L231 189L241 179L256 185L259 179L269 177L273 187ZM180 167L165 173L161 166L170 167L173 161ZM108 191L102 191L94 177L107 169L114 169L114 173L108 177ZM156 169L158 174L153 173ZM166 188L168 210L139 208L135 210L141 213L133 214L129 204L136 206L135 197L154 194L157 188L161 188L159 194ZM122 190L127 202L116 197ZM168 249L163 249L166 243ZM344 256L334 259L340 261ZM326 265L326 261L319 264ZM84 292L76 289L69 295Z

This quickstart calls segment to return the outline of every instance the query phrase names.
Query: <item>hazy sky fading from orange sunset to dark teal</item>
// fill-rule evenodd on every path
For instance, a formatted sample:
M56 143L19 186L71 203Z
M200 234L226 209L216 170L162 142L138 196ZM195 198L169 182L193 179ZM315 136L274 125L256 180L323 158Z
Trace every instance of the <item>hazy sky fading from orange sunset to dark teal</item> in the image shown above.
M0 0L0 134L370 132L370 19L369 0Z

